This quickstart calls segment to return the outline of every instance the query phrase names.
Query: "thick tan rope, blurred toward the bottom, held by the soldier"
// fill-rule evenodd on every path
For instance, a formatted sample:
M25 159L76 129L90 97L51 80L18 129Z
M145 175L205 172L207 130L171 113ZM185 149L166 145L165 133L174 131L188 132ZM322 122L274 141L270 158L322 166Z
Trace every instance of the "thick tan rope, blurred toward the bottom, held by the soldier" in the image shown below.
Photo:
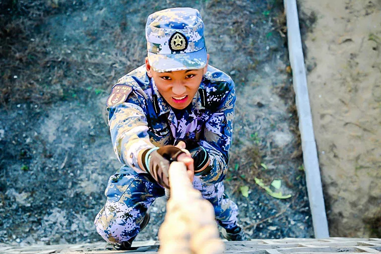
M169 169L170 199L159 229L161 254L223 254L213 206L202 198L182 162Z

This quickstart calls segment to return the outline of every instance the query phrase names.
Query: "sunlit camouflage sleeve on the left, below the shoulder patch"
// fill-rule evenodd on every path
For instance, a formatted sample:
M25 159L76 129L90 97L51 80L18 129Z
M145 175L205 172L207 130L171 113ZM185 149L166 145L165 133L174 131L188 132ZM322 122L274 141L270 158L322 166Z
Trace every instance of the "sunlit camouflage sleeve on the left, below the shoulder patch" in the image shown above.
M130 95L124 103L108 107L111 140L118 160L137 173L145 172L139 167L138 153L154 145L147 133L147 118L143 110L144 102Z

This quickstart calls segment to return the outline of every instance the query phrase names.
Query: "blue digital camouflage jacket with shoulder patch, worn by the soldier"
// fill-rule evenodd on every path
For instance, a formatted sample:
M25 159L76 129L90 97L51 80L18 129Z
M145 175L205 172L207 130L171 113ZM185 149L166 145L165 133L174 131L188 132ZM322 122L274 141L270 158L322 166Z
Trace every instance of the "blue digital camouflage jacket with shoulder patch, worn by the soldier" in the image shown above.
M176 119L153 79L146 74L145 65L121 77L114 89L129 91L117 104L109 103L113 100L112 92L107 107L111 139L121 163L138 173L144 172L137 162L141 149L173 145L178 139L191 138L210 157L212 170L199 176L200 180L213 184L224 179L236 100L234 82L227 74L209 66L181 119Z

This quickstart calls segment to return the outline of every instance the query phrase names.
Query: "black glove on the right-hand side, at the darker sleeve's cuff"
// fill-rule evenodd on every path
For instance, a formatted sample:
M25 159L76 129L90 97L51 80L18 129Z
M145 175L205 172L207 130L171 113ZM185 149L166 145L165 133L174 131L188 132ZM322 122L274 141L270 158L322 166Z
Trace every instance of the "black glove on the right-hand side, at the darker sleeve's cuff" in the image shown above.
M185 143L185 148L191 153L194 165L194 175L199 176L208 174L211 170L211 167L209 166L209 154L205 148L199 146L195 140L189 138L180 139L175 143L175 145L179 144L180 141Z

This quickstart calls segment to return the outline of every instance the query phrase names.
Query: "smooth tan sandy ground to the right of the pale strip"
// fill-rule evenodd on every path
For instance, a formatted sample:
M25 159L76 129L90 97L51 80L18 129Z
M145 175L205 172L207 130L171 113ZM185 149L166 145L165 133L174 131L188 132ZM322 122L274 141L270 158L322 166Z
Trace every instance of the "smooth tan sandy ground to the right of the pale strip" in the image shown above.
M300 16L330 236L381 237L381 0Z

